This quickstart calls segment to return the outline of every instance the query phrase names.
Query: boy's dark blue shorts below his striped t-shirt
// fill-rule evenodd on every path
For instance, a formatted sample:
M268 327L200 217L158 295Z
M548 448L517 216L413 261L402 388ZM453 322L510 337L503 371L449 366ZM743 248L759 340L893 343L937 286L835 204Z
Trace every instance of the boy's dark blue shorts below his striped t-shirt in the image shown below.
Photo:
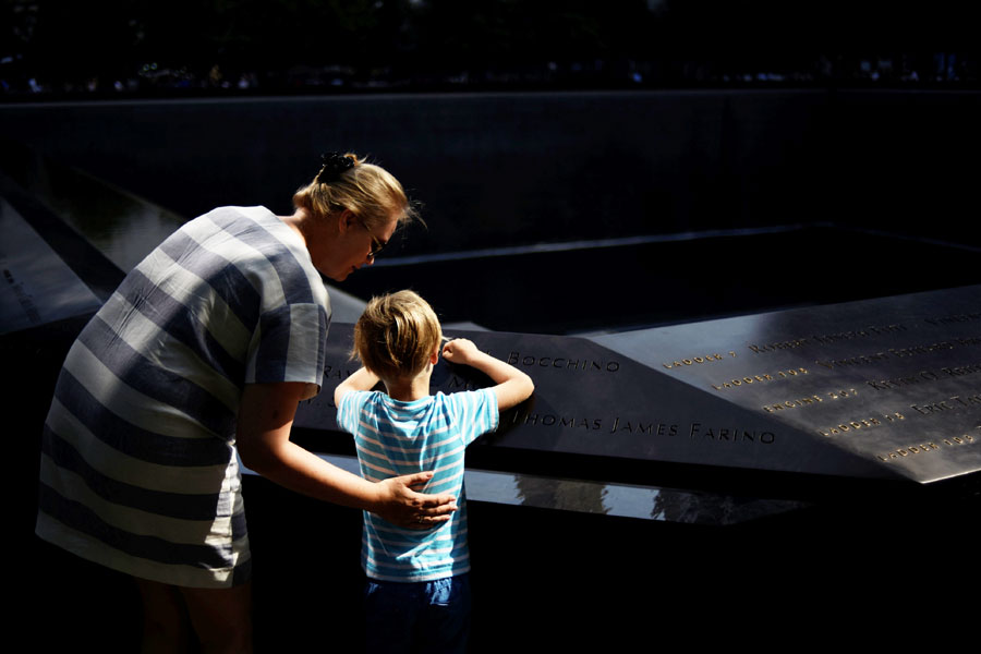
M368 652L463 652L470 634L470 574L401 583L368 579Z

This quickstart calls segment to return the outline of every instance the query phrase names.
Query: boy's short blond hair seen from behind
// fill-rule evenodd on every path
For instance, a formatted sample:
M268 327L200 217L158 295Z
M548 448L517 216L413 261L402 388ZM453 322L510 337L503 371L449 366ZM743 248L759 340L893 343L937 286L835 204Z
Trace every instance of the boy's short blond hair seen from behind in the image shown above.
M354 325L354 354L382 379L414 377L441 341L439 318L412 291L372 298Z

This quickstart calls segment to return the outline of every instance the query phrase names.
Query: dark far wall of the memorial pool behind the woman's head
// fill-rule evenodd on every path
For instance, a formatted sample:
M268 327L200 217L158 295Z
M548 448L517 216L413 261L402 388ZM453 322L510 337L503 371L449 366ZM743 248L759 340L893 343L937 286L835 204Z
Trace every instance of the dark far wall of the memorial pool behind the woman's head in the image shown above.
M289 210L319 153L368 154L425 204L409 254L811 222L978 245L979 109L851 89L121 100L0 106L0 137L186 217Z

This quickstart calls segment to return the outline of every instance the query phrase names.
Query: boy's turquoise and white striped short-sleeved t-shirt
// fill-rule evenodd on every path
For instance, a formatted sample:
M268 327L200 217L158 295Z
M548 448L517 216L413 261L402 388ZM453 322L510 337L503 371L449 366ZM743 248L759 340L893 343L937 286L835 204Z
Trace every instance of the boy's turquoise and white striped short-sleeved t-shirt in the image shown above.
M362 567L372 579L432 581L470 570L463 450L497 428L497 396L491 388L393 400L384 392L354 391L341 398L337 423L354 435L361 474L380 481L433 471L426 493L451 493L459 509L427 531L398 528L364 512Z

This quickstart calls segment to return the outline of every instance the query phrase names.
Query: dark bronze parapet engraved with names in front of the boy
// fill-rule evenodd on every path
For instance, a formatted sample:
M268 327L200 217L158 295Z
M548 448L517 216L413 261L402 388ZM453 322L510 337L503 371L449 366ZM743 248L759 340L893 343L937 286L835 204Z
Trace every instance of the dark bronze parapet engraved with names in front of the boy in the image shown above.
M627 483L677 468L694 486L723 473L913 486L971 475L979 307L973 286L590 338L448 328L536 385L468 461ZM353 451L324 438L338 431L332 389L358 366L350 337L331 327L324 389L296 416L320 451ZM487 383L441 361L433 375L434 391Z

